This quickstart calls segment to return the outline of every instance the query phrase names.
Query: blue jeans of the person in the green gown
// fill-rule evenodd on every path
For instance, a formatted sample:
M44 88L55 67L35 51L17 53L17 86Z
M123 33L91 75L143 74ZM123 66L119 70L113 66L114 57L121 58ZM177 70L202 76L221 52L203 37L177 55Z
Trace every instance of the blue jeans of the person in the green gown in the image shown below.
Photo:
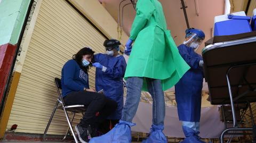
M148 91L153 98L153 124L164 125L165 101L162 81L150 78L145 79L147 81ZM140 102L142 85L142 77L129 77L126 80L127 95L121 120L132 122Z

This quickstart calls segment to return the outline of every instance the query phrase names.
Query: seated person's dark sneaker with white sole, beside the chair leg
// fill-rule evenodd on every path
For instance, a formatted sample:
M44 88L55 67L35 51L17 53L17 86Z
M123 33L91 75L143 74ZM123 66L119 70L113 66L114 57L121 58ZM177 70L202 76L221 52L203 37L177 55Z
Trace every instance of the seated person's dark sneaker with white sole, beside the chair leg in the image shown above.
M75 129L76 129L78 138L82 143L88 143L90 141L91 134L88 128L82 127L81 124L77 124Z

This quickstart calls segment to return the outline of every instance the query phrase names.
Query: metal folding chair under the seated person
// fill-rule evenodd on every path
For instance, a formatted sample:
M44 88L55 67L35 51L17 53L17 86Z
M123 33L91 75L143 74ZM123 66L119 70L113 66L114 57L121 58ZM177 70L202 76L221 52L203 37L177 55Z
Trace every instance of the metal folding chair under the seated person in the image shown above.
M52 115L51 115L50 120L49 120L49 122L48 122L48 124L46 126L45 131L44 131L43 140L46 140L45 139L46 133L47 133L47 130L49 129L49 126L50 126L50 124L52 122L52 118L53 118L53 115L54 115L55 111L57 110L57 108L61 108L64 111L64 113L65 113L65 116L66 116L66 119L67 119L68 125L69 125L69 127L67 129L67 132L65 134L65 137L62 139L62 141L66 139L66 137L68 135L68 132L69 132L69 129L70 129L72 134L73 134L73 137L74 137L76 143L78 143L78 140L77 140L77 138L75 136L75 133L74 133L74 130L72 128L72 122L74 120L74 117L75 117L76 113L82 113L84 115L84 112L86 111L87 107L84 106L84 105L68 105L68 106L66 106L65 103L63 102L63 98L62 98L61 93L60 93L60 89L61 89L61 81L60 81L60 79L59 78L55 78L54 79L54 83L55 83L55 86L56 86L59 98L57 99L57 103L56 103L55 107L53 108ZM68 116L67 111L69 111L72 114L74 114L72 119L71 119L71 122L69 120L69 116Z

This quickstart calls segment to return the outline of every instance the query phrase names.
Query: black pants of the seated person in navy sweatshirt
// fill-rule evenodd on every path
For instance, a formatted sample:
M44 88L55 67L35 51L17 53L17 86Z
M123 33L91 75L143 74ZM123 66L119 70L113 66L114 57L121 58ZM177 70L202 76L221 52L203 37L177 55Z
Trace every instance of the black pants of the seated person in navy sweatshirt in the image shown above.
M90 124L94 128L98 128L99 124L117 108L117 103L114 100L98 92L75 91L65 96L63 100L66 105L78 104L87 106L87 110L80 122L83 127L87 127ZM96 116L97 112L99 112L98 116Z

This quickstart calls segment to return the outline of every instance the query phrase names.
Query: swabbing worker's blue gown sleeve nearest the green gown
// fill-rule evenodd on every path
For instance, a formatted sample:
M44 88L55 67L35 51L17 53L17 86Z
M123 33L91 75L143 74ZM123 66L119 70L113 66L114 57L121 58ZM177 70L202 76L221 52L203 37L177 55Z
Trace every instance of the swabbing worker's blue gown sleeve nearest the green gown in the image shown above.
M110 78L113 78L113 79L123 78L125 69L126 69L126 62L124 57L122 56L113 68L107 67L105 74L107 74Z

